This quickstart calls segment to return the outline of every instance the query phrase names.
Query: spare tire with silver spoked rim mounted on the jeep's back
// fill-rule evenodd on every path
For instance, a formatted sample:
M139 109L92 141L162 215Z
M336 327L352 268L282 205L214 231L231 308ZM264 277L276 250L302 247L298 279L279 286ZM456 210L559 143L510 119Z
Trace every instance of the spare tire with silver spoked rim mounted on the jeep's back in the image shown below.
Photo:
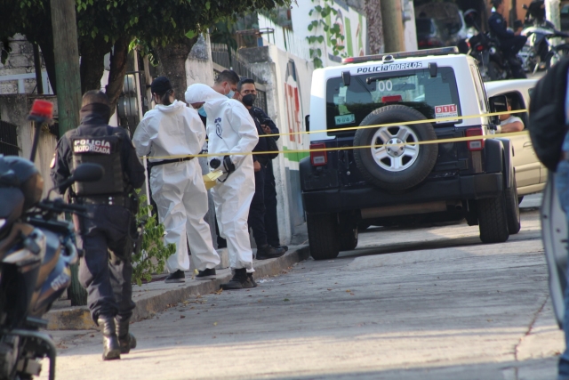
M437 140L437 133L430 123L405 125L405 121L426 119L415 109L392 105L375 109L362 120L360 125L401 122L401 125L357 130L354 147L379 145L354 150L357 168L365 181L385 190L406 190L427 178L437 162L438 144L416 142ZM383 146L397 143L407 145Z

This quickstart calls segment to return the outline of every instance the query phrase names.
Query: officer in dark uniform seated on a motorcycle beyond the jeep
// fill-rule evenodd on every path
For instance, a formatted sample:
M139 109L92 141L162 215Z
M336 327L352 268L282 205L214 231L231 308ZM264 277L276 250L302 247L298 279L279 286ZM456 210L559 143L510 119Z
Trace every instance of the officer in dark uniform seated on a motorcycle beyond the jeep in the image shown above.
M495 12L492 12L490 19L488 19L488 26L493 36L498 38L500 48L504 54L504 58L510 62L512 74L517 78L525 78L524 69L521 63L517 61L517 53L524 47L526 36L520 36L518 32L508 30L506 20L501 15L504 11L504 0L493 0L492 4Z

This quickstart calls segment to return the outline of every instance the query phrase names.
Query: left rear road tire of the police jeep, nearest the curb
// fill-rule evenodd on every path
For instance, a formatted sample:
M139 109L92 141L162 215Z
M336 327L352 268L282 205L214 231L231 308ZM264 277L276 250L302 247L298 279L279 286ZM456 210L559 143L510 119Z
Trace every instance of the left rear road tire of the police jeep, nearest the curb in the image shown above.
M340 253L338 215L307 214L306 224L309 230L310 255L315 260L338 257Z

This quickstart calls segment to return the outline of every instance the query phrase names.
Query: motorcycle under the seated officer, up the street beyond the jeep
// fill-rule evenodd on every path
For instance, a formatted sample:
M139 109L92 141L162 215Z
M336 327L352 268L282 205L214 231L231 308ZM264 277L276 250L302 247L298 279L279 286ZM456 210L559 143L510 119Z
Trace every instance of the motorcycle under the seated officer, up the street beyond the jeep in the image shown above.
M506 59L501 53L497 39L482 31L477 23L477 11L469 9L464 12L464 20L469 27L476 28L477 35L469 38L469 51L478 62L480 75L485 82L522 77L517 74L516 66L521 65L517 57ZM523 76L525 77L525 75Z

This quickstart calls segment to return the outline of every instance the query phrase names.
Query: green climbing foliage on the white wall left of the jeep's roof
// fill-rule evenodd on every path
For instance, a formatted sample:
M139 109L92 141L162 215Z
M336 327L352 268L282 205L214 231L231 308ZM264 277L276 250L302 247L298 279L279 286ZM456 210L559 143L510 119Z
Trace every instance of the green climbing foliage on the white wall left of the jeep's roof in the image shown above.
M312 0L312 3L315 1L317 0ZM341 34L340 25L335 23L333 25L328 25L325 21L327 16L331 14L335 16L338 14L338 11L332 7L334 4L333 0L323 0L323 2L324 6L316 5L309 12L309 15L312 16L314 14L317 17L317 20L312 20L308 26L309 31L313 32L314 36L306 37L309 44L313 44L315 46L314 48L310 48L309 53L316 69L323 67L322 50L316 47L316 44L322 44L325 41L325 36L319 34L320 28L330 35L330 44L333 49L333 54L341 57L346 56L346 53L343 53L346 47L343 44L345 37Z

